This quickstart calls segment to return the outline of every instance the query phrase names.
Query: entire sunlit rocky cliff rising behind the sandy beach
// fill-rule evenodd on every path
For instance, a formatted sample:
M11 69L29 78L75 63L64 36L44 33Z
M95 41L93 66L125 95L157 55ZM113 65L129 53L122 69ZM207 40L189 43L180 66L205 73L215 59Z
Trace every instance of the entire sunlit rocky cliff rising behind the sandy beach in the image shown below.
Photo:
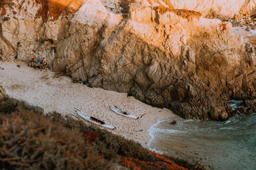
M256 97L253 47L231 23L202 17L237 17L254 1L12 3L2 8L2 58L45 56L53 71L187 119L227 119L223 99Z

